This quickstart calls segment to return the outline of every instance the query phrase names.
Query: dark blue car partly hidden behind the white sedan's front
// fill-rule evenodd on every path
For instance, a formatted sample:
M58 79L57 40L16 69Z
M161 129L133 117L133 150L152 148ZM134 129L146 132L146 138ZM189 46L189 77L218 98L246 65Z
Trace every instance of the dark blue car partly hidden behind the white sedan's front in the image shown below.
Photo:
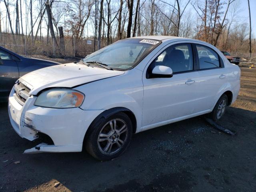
M8 100L18 78L28 72L56 64L59 63L22 57L0 46L0 102Z

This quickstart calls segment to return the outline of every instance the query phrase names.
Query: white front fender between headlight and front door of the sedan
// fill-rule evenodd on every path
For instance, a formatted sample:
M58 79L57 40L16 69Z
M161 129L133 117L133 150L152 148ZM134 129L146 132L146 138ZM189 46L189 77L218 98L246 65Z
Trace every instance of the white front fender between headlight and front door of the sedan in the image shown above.
M126 108L136 118L136 131L142 123L143 84L142 72L130 70L123 75L91 82L76 88L85 94L83 110L109 110Z

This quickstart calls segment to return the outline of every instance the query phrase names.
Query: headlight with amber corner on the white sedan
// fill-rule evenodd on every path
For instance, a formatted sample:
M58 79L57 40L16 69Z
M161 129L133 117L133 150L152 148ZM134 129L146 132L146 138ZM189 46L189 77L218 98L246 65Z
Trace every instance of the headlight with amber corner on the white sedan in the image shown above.
M48 108L74 108L82 105L84 94L72 89L51 89L42 92L34 105Z

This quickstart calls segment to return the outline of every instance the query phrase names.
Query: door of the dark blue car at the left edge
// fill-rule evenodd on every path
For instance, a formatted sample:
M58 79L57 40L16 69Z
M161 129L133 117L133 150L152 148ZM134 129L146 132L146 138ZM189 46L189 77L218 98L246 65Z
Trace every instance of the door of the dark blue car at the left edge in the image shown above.
M0 99L8 98L12 87L19 78L19 70L12 56L0 49Z

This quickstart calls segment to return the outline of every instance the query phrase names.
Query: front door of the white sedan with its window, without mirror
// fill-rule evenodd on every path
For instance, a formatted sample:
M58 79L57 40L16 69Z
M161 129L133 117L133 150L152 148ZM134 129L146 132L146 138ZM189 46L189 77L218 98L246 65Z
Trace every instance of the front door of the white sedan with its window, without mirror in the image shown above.
M185 54L184 54L185 53ZM166 46L150 61L142 77L143 114L142 129L168 123L170 120L189 116L194 113L198 104L198 93L195 91L194 58L190 43ZM171 78L147 78L147 73L157 65L172 68ZM161 124L160 124L161 125Z

